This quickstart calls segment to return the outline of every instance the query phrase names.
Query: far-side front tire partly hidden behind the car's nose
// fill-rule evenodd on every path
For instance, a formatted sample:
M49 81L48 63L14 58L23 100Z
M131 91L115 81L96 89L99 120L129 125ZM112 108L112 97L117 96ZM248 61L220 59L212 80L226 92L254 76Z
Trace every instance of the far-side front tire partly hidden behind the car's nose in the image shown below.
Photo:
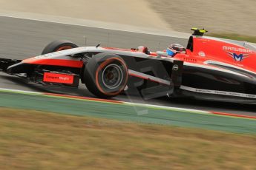
M73 44L73 42L68 40L57 40L53 41L50 44L47 44L45 49L42 51L42 55L45 55L50 52L56 52L61 50L68 50L71 48L78 47L76 44Z

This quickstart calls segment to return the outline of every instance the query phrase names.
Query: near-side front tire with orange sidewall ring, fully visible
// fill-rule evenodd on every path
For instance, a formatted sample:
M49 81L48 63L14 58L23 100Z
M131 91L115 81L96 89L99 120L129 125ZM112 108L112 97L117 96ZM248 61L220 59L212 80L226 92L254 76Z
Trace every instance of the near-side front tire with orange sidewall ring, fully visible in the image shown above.
M112 98L125 89L128 68L119 55L99 53L85 65L85 85L99 98Z

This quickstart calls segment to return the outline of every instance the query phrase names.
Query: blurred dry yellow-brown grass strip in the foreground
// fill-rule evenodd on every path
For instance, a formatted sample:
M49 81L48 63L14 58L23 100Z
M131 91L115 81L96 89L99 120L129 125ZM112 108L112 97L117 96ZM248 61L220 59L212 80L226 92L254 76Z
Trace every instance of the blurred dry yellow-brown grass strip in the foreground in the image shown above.
M256 135L0 109L0 169L256 169Z

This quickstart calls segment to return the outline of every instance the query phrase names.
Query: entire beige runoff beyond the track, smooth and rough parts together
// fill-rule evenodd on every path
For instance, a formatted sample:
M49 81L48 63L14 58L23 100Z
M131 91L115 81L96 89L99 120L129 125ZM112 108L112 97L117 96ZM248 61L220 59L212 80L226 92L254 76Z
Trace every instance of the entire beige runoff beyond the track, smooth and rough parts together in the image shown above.
M256 35L255 0L0 0L4 11L105 21L116 24L191 33Z

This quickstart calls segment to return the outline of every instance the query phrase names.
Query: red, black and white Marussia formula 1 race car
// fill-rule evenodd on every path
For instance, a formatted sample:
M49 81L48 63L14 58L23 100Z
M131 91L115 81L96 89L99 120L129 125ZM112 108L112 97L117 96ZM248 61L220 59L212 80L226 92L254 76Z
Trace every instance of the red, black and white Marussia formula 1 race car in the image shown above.
M0 69L48 86L77 87L81 80L100 98L125 89L143 98L168 95L255 103L256 48L205 37L204 29L191 30L185 52L174 56L146 47L78 47L70 41L53 41L33 58L1 58Z

